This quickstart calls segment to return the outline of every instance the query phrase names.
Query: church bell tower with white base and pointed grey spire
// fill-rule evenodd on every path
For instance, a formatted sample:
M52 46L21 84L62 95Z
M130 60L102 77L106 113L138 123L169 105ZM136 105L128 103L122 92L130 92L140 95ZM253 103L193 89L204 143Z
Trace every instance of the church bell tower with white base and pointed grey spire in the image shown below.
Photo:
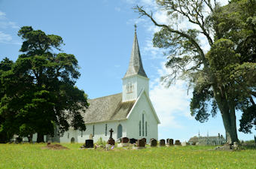
M133 50L130 57L129 67L126 74L123 77L123 100L122 101L133 101L136 100L142 90L144 89L148 95L148 77L142 66L142 58L139 52L139 44L136 33L133 39Z

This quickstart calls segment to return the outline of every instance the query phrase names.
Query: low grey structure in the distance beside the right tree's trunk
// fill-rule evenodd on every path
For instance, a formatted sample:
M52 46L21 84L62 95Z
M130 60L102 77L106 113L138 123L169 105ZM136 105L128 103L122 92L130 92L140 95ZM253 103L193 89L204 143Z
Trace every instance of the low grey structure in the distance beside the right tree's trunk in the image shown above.
M191 137L190 140L188 140L188 143L190 143L190 145L223 145L224 143L226 143L226 139L223 137L223 135L218 134L218 136L200 136L200 134L198 134L197 136Z

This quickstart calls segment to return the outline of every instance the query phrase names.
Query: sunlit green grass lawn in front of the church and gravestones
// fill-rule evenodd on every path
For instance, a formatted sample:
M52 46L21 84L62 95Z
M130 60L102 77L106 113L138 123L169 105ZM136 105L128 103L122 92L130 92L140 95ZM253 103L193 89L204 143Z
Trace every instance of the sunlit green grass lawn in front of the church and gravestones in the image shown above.
M0 168L256 168L256 150L213 151L215 146L147 149L41 149L46 144L0 144Z

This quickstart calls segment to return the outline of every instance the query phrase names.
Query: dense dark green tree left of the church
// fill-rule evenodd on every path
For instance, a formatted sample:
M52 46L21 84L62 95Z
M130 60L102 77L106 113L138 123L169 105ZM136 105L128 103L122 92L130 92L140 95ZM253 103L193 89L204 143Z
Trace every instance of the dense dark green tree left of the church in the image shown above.
M85 130L81 113L89 104L84 91L75 87L80 77L75 56L56 53L63 44L57 35L31 26L23 26L18 35L23 39L23 54L1 74L0 132L29 140L37 133L37 141L42 142L56 126L59 134L70 126Z

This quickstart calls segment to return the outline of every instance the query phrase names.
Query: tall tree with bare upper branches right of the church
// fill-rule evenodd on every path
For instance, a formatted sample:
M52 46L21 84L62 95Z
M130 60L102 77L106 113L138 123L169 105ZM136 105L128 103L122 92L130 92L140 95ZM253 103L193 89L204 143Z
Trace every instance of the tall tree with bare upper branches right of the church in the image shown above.
M157 4L172 23L160 24L144 8L135 9L161 27L153 44L169 49L166 68L172 69L163 81L171 85L177 77L186 79L194 90L191 115L206 122L219 110L227 143L238 141L236 111L254 114L255 118L255 0L231 1L222 7L211 0L157 0ZM187 20L187 29L179 29L180 20ZM202 35L209 51L203 50ZM253 117L244 119L248 125Z

